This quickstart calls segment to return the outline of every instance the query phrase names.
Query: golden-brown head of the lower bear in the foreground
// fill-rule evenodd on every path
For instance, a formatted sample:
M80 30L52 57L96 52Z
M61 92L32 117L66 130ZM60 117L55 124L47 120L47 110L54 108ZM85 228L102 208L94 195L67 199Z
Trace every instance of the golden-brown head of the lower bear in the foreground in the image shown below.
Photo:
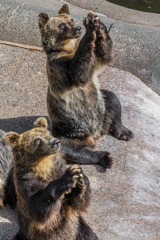
M30 131L18 134L9 132L5 142L13 150L14 160L27 159L28 164L34 164L37 159L56 154L60 147L60 140L54 138L47 130L45 118L38 118Z

